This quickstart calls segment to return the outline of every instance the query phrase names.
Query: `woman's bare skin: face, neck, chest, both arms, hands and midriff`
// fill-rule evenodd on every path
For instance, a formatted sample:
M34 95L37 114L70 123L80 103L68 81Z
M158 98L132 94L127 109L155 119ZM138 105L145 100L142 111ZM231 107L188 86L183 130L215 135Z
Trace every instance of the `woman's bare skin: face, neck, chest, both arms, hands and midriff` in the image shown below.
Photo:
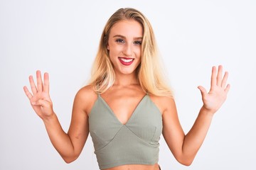
M112 108L118 120L125 124L131 117L139 101L144 97L144 91L137 81L135 69L141 62L142 26L137 21L120 21L110 30L107 49L110 51L110 60L113 63L116 80L114 85L108 89L102 98ZM120 57L132 59L130 65L120 62ZM226 85L228 72L223 76L223 67L218 70L213 67L210 79L210 91L203 86L198 86L201 91L203 106L198 117L185 135L178 120L176 104L173 98L150 95L151 100L161 111L163 118L163 135L169 149L178 162L186 166L193 162L198 149L201 147L213 115L224 103L230 85ZM97 100L97 94L92 86L85 86L75 96L73 113L68 133L64 132L53 111L53 103L49 95L49 75L36 72L36 83L33 77L29 77L31 92L24 86L26 96L33 110L43 120L46 130L53 146L63 157L65 162L70 163L77 159L82 152L87 136L89 134L88 116ZM154 165L123 165L106 170L158 170L158 164Z

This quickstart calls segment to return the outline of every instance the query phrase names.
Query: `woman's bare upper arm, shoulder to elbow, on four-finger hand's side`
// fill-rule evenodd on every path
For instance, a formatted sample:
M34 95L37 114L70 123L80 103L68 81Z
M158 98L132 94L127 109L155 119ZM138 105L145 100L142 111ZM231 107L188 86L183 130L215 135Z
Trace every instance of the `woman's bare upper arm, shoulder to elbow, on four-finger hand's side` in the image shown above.
M78 91L74 99L68 135L72 141L75 155L77 156L82 152L82 148L89 134L88 113L95 102L95 95L94 91L85 87Z

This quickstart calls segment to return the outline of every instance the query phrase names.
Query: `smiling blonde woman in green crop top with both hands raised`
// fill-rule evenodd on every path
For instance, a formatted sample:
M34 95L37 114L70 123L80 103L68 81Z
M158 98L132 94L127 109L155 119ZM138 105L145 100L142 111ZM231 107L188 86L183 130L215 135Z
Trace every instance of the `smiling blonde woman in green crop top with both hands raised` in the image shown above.
M32 94L26 86L24 91L65 162L78 158L90 132L100 169L158 170L161 134L178 162L193 162L230 89L228 72L222 74L221 66L213 67L208 93L198 86L203 106L185 135L149 21L133 8L120 8L103 30L90 83L75 96L68 133L53 111L48 73L42 81L36 72L37 85L30 76Z

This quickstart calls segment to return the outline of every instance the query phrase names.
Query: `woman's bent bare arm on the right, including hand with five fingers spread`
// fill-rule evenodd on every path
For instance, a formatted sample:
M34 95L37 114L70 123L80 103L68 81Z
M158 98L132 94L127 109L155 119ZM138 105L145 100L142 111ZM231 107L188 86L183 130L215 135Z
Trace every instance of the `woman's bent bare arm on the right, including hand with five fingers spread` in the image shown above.
M193 127L186 135L179 123L174 100L171 98L165 100L163 135L174 157L181 164L188 166L193 162L198 149L203 144L214 113L218 111L225 101L230 85L226 86L228 73L225 72L222 78L222 72L223 68L221 66L218 67L218 73L216 68L213 67L210 91L208 93L202 86L198 86L202 94L203 106Z

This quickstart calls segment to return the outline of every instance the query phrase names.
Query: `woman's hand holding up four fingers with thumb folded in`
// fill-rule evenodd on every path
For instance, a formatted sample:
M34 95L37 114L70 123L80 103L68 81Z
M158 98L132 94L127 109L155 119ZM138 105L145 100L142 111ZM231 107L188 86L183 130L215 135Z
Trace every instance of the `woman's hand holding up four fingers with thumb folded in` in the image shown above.
M28 91L26 86L23 87L26 96L28 97L33 110L36 114L43 120L50 118L53 112L53 103L50 100L49 95L49 75L44 74L43 81L41 77L41 72L36 71L36 81L33 80L32 76L29 76L29 83L31 85L31 91Z

